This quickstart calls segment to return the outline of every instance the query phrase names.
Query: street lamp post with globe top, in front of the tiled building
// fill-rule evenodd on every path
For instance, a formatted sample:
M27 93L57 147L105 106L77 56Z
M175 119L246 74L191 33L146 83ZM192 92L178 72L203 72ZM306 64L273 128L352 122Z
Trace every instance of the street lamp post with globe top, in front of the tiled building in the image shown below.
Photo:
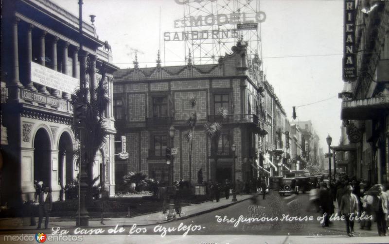
M170 153L173 151L172 148L174 148L174 136L175 136L176 129L174 126L171 126L169 128L169 136L170 136ZM168 197L169 197L169 213L167 215L167 219L174 219L176 218L176 212L174 209L174 198L176 196L176 187L173 185L173 167L174 167L174 155L170 155L170 160L166 160L166 163L169 166L169 186L168 186Z

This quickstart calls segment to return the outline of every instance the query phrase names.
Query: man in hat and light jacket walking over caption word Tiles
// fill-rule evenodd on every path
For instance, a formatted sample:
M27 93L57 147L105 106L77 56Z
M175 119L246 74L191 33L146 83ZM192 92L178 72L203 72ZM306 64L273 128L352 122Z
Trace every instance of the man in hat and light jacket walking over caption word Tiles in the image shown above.
M354 188L346 186L345 194L340 200L338 214L342 214L346 221L346 231L348 236L354 236L354 218L358 214L358 198L353 194Z

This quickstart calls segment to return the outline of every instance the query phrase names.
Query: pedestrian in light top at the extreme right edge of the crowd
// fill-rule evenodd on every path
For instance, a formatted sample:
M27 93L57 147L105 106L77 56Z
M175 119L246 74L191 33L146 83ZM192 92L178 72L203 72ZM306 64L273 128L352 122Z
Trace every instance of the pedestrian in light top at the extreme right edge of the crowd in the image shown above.
M384 192L384 187L381 184L375 185L375 197L373 200L373 208L377 220L377 229L379 236L387 236L387 219L388 219L388 194Z

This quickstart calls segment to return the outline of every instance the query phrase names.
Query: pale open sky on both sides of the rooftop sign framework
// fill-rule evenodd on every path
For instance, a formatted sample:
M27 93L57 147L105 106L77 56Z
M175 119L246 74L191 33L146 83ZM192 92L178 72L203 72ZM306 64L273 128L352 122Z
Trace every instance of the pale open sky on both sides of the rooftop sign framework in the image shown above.
M228 2L230 0L223 0ZM241 0L246 1L246 0ZM53 0L78 16L78 0ZM266 19L261 23L263 69L274 86L291 124L311 120L326 151L325 138L340 139L343 89L343 1L260 0ZM157 52L166 65L183 65L182 42L170 42L163 52L163 33L174 32L174 20L183 17L175 0L84 0L83 17L95 15L97 34L112 46L113 64L154 67Z

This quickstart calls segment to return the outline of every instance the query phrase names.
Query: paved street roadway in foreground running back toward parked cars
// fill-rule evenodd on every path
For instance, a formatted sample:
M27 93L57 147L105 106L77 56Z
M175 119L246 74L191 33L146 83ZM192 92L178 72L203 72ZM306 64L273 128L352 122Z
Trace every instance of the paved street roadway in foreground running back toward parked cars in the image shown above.
M257 196L256 199L256 202L246 200L224 209L161 225L137 228L133 226L132 230L131 227L125 227L125 230L116 233L117 235L107 235L108 228L103 228L105 229L103 235L83 235L83 242L93 244L97 242L104 244L389 243L389 237L377 236L375 225L371 231L361 231L359 230L359 224L355 223L354 238L346 236L345 224L340 221L334 221L329 228L322 228L317 220L320 214L313 210L307 211L309 208L308 194L289 197L270 194L266 195L265 200L262 200L262 195ZM241 221L238 224L236 221L240 216L246 218L278 216L281 219L283 214L289 214L289 216L312 215L313 220L292 221L291 223L287 221L251 223ZM74 229L70 230L71 233L73 231ZM130 231L132 231L131 235L129 235ZM0 243L2 241L4 241L4 236L0 236ZM56 243L55 241L49 241L48 243Z

